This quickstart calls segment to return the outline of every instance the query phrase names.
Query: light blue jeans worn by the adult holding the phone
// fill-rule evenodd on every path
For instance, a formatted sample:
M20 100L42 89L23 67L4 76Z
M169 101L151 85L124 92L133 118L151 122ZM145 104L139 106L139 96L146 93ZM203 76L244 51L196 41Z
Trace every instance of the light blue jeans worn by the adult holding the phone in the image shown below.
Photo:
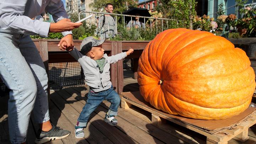
M30 114L37 123L49 121L48 77L30 36L0 29L0 77L11 90L8 101L10 141L26 141Z

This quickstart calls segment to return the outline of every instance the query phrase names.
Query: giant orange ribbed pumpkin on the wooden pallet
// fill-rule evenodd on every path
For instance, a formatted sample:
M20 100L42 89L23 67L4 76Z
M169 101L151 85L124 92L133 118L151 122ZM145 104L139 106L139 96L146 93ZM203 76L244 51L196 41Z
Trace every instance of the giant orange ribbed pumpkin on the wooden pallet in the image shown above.
M224 119L246 110L255 74L245 52L209 32L170 29L149 42L139 59L144 99L170 114Z

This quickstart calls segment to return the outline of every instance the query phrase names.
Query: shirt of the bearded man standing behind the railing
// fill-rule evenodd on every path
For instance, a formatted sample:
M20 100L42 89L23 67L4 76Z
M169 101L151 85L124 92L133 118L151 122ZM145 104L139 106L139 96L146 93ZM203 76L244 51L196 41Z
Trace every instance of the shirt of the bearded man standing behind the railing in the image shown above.
M104 17L101 16L99 23L99 31L101 35L101 39L109 38L109 36L114 37L117 33L116 31L116 20L112 16L105 16L105 23L103 24ZM108 28L109 27L109 28ZM109 29L109 33L108 33Z

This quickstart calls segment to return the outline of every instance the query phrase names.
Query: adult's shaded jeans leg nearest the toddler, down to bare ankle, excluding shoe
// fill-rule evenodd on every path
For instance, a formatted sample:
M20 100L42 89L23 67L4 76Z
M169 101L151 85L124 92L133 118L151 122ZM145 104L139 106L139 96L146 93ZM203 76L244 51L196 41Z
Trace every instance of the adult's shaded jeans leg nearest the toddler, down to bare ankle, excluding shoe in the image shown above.
M33 109L34 118L36 123L40 124L40 127L43 131L49 131L52 128L52 125L49 121L50 117L47 96L48 77L46 69L30 36L24 35L20 40L20 52L26 59L26 62L30 66L30 69L36 80L37 96Z

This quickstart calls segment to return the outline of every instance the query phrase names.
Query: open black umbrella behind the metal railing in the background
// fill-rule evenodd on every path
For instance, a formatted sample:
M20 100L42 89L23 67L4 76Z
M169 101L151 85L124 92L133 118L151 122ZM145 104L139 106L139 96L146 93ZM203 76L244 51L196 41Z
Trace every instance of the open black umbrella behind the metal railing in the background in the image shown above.
M136 15L139 14L139 16L146 16L146 17L151 17L151 15L149 14L148 9L142 9L142 8L137 8L137 7L133 7L125 12L122 13L123 15ZM123 17L119 18L119 22L122 22ZM124 17L125 23L128 23L131 20L131 17L129 16L125 16ZM135 20L135 17L132 17L132 20ZM139 21L144 23L144 18L139 18ZM148 21L148 18L145 18L145 22Z

